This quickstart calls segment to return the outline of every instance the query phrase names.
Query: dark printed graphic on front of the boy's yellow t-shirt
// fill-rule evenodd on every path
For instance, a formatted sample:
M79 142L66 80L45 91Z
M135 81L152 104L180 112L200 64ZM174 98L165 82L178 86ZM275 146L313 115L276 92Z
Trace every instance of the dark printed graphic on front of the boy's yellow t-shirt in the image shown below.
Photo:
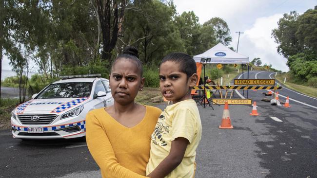
M155 126L154 132L151 135L151 140L154 144L156 145L161 145L161 146L166 146L166 142L163 140L163 135L162 134L167 134L169 133L168 126L163 125L165 117L164 115L160 115L158 117L158 123Z

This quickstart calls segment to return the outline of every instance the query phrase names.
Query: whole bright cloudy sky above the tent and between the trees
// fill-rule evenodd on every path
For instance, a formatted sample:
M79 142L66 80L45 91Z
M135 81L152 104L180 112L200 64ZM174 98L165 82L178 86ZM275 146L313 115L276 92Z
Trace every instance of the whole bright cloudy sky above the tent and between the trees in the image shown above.
M277 43L271 36L277 21L283 14L297 11L303 14L314 9L317 0L174 0L178 14L194 11L203 24L210 18L224 19L230 29L232 42L229 46L238 53L249 56L249 60L259 57L262 64L272 64L273 68L289 71L287 59L277 53Z

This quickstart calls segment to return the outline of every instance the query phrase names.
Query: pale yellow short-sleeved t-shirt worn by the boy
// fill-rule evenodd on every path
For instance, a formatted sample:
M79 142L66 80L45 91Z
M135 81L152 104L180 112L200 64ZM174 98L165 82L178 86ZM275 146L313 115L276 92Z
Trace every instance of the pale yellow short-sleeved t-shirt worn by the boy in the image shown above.
M201 122L196 102L192 99L167 106L159 116L151 136L146 175L167 157L172 141L178 137L186 138L189 144L181 163L165 178L193 178L196 148L201 139Z

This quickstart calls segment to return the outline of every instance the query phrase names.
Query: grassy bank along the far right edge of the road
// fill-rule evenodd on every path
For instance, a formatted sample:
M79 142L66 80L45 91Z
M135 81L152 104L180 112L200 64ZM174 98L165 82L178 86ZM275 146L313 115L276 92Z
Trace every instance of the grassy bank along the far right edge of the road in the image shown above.
M286 77L286 83L284 83L284 78ZM312 96L317 98L317 89L314 87L307 87L307 86L302 86L302 85L297 85L291 82L288 82L287 80L290 80L290 76L287 73L281 73L277 74L276 79L279 83L285 85L289 89L293 89L295 91L299 91L301 93L304 93L308 96Z

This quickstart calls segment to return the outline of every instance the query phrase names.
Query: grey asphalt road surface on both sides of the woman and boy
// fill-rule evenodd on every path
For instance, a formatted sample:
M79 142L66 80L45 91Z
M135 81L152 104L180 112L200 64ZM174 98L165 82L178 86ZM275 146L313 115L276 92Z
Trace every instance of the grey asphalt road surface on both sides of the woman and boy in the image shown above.
M249 77L258 72L251 71ZM261 72L257 78L269 74ZM284 91L280 93L287 95ZM292 108L271 106L260 101L262 92L249 91L260 116L249 115L251 106L230 106L234 129L218 128L223 106L198 107L203 136L197 149L197 178L317 178L317 109L293 101ZM9 131L0 131L0 142L0 178L100 177L85 142L21 141L12 139Z

